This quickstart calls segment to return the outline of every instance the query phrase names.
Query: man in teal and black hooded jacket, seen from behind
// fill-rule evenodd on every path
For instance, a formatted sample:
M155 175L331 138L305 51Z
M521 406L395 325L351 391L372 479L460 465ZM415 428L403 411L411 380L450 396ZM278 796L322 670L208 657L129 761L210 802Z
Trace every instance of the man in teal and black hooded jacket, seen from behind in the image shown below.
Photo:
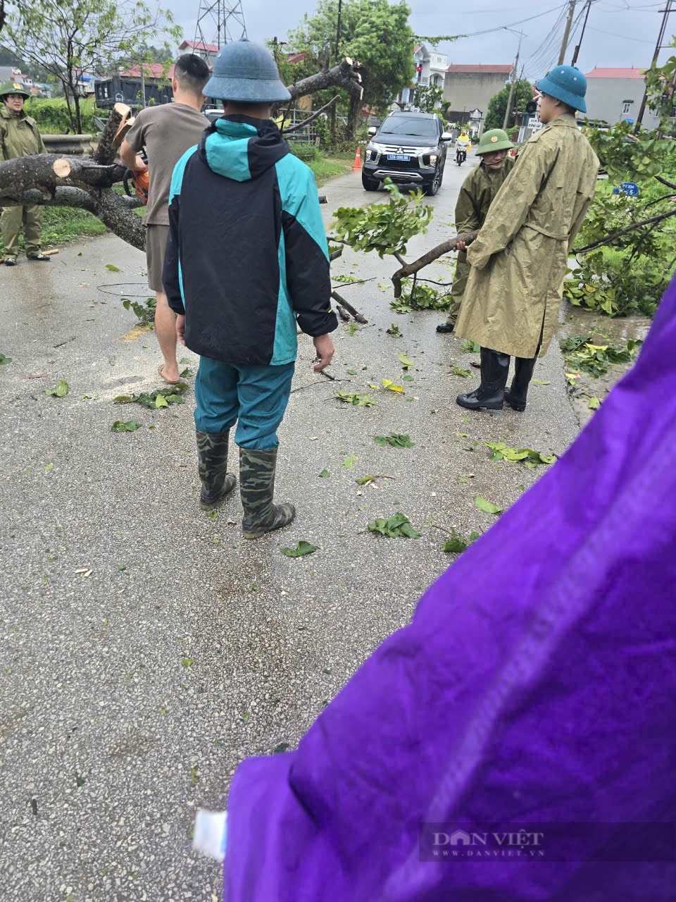
M162 281L179 341L201 357L200 505L217 506L235 486L227 455L237 421L242 531L258 538L295 516L272 498L297 327L313 336L319 371L338 320L314 176L269 120L272 103L290 97L274 60L250 41L227 44L205 94L224 100L225 115L174 170Z

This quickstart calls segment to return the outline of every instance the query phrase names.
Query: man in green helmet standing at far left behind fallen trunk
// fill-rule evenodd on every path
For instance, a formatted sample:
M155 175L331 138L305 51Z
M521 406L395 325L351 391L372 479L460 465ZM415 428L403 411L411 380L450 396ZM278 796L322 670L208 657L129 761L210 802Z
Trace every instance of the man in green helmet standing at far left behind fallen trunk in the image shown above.
M30 94L19 82L5 81L0 86L0 160L14 160L29 153L44 153L38 124L26 115L23 104ZM41 251L42 207L5 207L0 216L0 230L5 244L5 266L14 266L19 253L19 233L23 223L23 238L29 260L50 262Z

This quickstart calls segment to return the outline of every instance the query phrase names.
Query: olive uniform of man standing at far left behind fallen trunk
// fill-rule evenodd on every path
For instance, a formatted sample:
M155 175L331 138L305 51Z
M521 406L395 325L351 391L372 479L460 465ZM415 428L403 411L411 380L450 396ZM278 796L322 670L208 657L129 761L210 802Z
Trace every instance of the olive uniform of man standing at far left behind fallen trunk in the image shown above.
M14 160L29 153L45 153L38 125L30 115L15 113L3 103L0 106L0 160ZM5 207L0 216L0 230L5 244L5 256L19 253L19 233L23 224L26 256L41 251L42 207Z

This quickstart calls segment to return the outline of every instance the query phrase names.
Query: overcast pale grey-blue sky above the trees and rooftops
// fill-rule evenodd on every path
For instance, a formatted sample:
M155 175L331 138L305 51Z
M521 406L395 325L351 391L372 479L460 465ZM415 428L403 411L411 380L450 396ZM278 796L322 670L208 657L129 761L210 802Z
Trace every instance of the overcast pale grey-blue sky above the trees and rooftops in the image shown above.
M233 0L226 0L233 2ZM441 45L449 62L508 63L516 56L519 35L504 29L488 34L476 34L507 25L515 31L523 31L521 62L525 78L544 75L558 60L568 3L562 0L408 0L412 8L411 26L421 34L456 34L468 36L453 43ZM195 36L196 14L199 0L165 0L183 27L185 36ZM571 62L580 34L584 10L579 0L575 10L577 25L572 32L566 62ZM662 21L664 0L592 0L587 31L582 41L578 65L583 72L595 66L635 66L646 68L653 58L653 50ZM294 28L302 15L314 9L313 0L242 0L247 32L251 40L264 41L277 36L283 40L286 32ZM537 16L537 18L532 18ZM530 19L528 22L520 20ZM575 21L574 20L574 21ZM676 33L676 11L671 14L671 29ZM662 51L661 60L667 56Z

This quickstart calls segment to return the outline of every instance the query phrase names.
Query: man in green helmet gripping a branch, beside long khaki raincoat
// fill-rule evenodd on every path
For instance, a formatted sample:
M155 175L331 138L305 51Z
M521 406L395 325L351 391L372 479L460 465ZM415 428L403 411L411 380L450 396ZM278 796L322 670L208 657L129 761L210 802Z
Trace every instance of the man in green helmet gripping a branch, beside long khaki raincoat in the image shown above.
M491 128L481 135L477 148L480 164L462 182L455 203L455 231L458 235L475 232L483 226L490 205L514 167L514 158L507 156L507 151L513 146L507 132L503 132L501 128ZM451 307L446 322L436 327L437 332L453 331L470 275L466 244L463 241L458 242L458 252L451 286Z

